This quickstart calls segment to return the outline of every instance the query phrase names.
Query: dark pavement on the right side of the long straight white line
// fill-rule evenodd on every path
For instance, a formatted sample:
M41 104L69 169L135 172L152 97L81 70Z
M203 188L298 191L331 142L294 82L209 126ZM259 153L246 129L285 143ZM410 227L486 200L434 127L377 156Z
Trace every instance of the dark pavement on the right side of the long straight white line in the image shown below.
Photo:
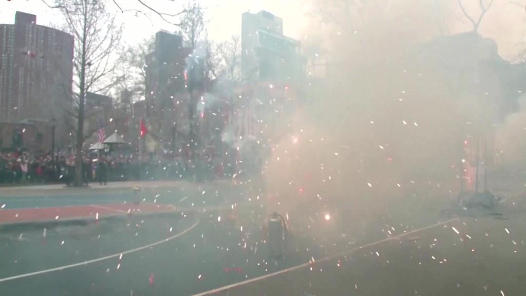
M454 220L203 295L524 295L525 221Z

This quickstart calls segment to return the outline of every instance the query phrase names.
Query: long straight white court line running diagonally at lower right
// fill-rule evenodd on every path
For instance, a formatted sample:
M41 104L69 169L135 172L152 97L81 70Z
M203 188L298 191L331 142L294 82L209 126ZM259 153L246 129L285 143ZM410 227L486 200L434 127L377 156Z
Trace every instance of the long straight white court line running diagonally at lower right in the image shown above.
M275 277L276 275L279 275L279 274L282 274L282 273L286 273L286 272L289 272L289 271L294 271L294 270L298 270L298 269L301 269L301 268L304 268L304 267L308 267L308 266L310 266L312 264L315 264L316 262L323 262L323 261L335 259L335 258L341 257L343 255L347 255L347 254L356 252L358 250L369 248L369 247L374 246L374 245L378 245L378 244L385 243L385 242L392 241L392 240L398 240L398 239L403 238L404 236L407 236L409 234L413 234L413 233L417 233L417 232L420 232L420 231L424 231L424 230L428 230L428 229L431 229L431 228L435 228L437 226L448 224L448 223L450 223L452 221L455 221L455 220L458 220L458 218L453 218L453 219L450 219L450 220L445 221L445 222L440 222L440 223L432 224L432 225L429 225L429 226L426 226L426 227L423 227L423 228L419 228L419 229L411 230L411 231L408 231L408 232L404 232L404 233L399 234L399 235L390 236L387 239L383 239L383 240L379 240L379 241L376 241L376 242L372 242L372 243L364 244L364 245L361 245L361 246L357 246L356 248L352 248L350 250L343 251L343 252L340 252L340 253L337 253L337 254L334 254L334 255L331 255L331 256L328 256L328 257L316 260L315 262L310 262L310 261L309 262L305 262L303 264L296 265L296 266L293 266L293 267L290 267L290 268L287 268L287 269L284 269L284 270L280 270L280 271L277 271L277 272L261 275L261 277L257 277L257 278L254 278L254 279L249 279L249 280L242 281L242 282L233 283L233 284L230 284L230 285L226 285L224 287L220 287L220 288L217 288L217 289L214 289L214 290L209 290L209 291L202 292L202 293L199 293L199 294L194 294L193 296L210 295L210 294L214 294L214 293L217 293L217 292L225 291L225 290L228 290L228 289L231 289L231 288L236 288L236 287L239 287L241 285L248 284L248 283L256 282L256 281L259 281L259 280L264 280L264 279L267 279L267 278L270 278L270 277Z

